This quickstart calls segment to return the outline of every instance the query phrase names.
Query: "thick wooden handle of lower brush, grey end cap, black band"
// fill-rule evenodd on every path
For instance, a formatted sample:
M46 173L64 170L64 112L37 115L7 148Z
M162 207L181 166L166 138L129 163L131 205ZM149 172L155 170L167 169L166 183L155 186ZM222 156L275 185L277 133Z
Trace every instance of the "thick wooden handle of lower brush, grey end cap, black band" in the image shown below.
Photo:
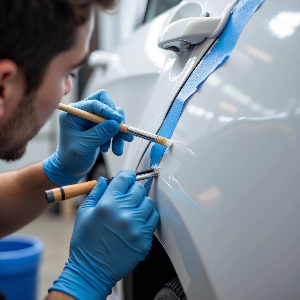
M47 203L53 203L89 193L96 184L97 180L92 180L46 190L46 201Z

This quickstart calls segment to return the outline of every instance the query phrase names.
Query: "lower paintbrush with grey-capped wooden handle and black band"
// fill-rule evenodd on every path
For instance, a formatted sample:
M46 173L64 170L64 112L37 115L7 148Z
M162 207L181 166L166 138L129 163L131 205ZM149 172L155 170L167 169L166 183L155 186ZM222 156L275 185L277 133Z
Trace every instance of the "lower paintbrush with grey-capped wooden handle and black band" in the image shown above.
M135 181L140 181L144 179L154 178L158 176L158 168L152 168L144 171L136 172L137 179ZM109 184L114 177L106 178L107 184ZM45 196L47 203L59 202L66 199L70 199L76 196L80 196L89 193L97 184L96 180L91 180L87 182L82 182L78 184L65 185L63 187L56 187L52 190L46 190Z

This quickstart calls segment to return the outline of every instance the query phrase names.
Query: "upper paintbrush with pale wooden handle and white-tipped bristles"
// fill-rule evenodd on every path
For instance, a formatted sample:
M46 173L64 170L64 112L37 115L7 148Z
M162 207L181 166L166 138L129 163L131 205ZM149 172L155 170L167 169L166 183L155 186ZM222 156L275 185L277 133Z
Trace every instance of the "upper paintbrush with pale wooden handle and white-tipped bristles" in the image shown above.
M57 109L63 110L64 112L70 113L74 116L77 116L77 117L80 117L82 119L86 119L88 121L95 122L95 123L101 123L101 122L104 122L104 121L107 120L104 117L98 116L98 115L93 114L93 113L88 113L85 110L80 110L79 108L68 106L68 105L62 104L62 103L58 104ZM154 143L158 143L158 144L161 144L163 146L170 147L170 146L173 145L172 140L169 140L165 137L160 137L156 134L152 134L150 132L135 128L133 126L126 125L124 123L119 123L119 127L120 127L119 131L130 134L130 135L133 135L135 137L140 137L144 140L148 140L148 141L151 141L151 142L154 142Z

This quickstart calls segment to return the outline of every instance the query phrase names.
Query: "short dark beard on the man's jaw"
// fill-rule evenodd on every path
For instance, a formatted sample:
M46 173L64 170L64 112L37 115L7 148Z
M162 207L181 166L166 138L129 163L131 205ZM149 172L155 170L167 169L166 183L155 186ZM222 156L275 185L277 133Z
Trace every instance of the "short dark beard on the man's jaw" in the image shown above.
M27 143L38 134L39 124L34 107L34 95L23 98L4 126L0 128L0 159L12 162L26 154Z

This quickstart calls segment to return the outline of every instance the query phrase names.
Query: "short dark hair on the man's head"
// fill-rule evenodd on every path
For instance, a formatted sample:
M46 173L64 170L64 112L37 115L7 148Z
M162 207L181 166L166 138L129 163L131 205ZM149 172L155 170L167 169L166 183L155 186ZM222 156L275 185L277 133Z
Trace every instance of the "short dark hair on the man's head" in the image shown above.
M49 61L76 43L91 8L117 0L1 0L0 59L13 60L26 77L27 94L43 79Z

